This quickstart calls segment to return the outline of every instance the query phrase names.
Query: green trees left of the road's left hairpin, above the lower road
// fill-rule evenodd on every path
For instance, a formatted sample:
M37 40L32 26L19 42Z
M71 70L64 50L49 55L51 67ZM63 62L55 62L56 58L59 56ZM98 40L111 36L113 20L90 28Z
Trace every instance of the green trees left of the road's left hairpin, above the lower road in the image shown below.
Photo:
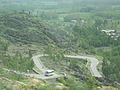
M4 67L16 71L21 72L27 72L27 70L32 71L32 68L34 66L33 61L31 60L31 56L23 57L22 54L19 52L16 52L16 55L14 56L1 54L0 58L2 59Z

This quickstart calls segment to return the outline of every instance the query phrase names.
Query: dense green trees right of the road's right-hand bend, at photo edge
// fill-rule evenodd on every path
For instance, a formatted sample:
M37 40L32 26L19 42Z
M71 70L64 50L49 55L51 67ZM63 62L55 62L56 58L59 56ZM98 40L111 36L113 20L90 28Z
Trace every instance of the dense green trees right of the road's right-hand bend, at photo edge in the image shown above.
M104 57L103 74L107 78L120 82L120 46L102 52L102 56Z

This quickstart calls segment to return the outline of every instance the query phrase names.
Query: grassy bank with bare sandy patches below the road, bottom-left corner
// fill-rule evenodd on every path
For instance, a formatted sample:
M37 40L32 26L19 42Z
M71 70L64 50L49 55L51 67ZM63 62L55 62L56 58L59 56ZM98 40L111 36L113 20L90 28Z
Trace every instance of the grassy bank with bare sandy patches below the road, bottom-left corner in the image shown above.
M4 71L0 68L0 89L1 90L35 90L35 89L45 89L49 87L43 80L37 80L34 78L28 78L21 74L16 74L12 71Z

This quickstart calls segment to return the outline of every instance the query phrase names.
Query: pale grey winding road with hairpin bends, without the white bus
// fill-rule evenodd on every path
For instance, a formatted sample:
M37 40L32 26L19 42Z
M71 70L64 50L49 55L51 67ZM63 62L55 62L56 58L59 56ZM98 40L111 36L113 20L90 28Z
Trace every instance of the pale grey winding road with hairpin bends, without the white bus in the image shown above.
M44 73L48 69L43 65L43 63L40 60L40 57L43 57L43 56L48 56L48 55L42 54L42 55L37 55L37 56L32 57L34 64L43 74L31 74L31 73L24 73L24 72L9 70L9 69L6 69L6 68L3 68L3 69L8 71L8 72L11 71L11 72L14 72L16 74L22 74L22 75L25 75L25 76L28 76L28 77L35 77L35 78L44 79L44 80L64 77L64 75L58 75L56 73L53 76L50 76L50 77L45 76ZM89 68L92 76L98 77L98 78L102 77L100 72L97 70L97 66L100 62L96 58L88 57L88 56L71 56L71 55L64 55L64 56L67 57L67 58L87 60L90 63L90 66L88 68Z

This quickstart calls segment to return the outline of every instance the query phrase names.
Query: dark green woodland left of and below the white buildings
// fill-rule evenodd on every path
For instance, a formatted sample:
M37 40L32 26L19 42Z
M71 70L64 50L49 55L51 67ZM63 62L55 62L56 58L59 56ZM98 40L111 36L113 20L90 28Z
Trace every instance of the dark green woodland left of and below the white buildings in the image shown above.
M96 19L94 24L76 24L73 28L73 35L78 47L88 49L89 47L104 47L119 45L119 39L114 40L101 32L105 21Z

